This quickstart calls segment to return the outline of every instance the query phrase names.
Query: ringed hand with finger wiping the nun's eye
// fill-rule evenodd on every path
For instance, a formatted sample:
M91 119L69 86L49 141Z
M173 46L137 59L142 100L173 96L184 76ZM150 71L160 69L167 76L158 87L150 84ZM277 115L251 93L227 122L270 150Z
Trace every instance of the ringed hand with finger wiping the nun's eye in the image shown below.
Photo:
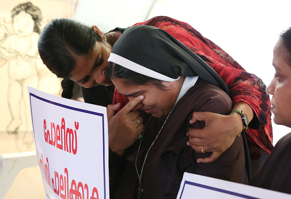
M118 155L123 155L125 149L134 144L143 132L142 117L139 117L139 112L132 111L143 99L143 95L134 98L116 115L114 114L120 103L110 104L107 107L109 147Z

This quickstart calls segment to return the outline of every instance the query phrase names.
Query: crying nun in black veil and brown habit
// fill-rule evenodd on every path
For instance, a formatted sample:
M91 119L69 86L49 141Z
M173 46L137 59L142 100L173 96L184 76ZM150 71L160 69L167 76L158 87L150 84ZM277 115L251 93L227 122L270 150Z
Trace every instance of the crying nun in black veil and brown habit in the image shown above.
M129 27L114 44L106 76L117 91L129 98L144 99L138 110L144 130L123 154L109 153L110 197L176 198L184 172L248 183L242 136L215 162L201 146L196 153L187 145L193 112L228 115L232 101L217 73L186 46L159 28ZM111 135L109 135L109 139ZM120 154L120 153L118 153Z

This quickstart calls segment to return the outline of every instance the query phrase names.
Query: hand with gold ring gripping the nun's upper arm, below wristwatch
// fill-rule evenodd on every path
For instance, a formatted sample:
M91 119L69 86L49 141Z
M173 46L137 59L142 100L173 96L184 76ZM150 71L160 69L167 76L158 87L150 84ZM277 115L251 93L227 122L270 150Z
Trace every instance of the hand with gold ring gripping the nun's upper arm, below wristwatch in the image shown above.
M212 152L210 157L199 158L197 162L214 162L235 140L235 137L242 131L242 120L239 114L221 115L211 112L194 112L190 123L205 121L202 129L189 128L187 135L191 146L197 153Z

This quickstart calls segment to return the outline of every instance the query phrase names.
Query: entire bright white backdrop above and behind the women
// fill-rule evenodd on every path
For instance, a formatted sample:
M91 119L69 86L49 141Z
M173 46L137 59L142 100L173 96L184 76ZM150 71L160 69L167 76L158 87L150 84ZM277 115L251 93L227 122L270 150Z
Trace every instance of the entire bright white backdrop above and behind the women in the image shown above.
M290 8L290 0L80 0L75 18L103 31L158 15L187 22L268 85L274 75L274 45L279 34L291 26ZM273 130L274 144L290 132L274 123Z

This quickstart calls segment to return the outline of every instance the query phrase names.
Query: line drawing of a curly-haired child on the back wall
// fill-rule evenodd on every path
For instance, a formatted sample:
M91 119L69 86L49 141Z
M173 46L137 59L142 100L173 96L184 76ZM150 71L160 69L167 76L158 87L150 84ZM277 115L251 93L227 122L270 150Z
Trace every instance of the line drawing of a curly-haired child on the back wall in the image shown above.
M8 106L12 119L7 126L8 133L17 132L20 125L25 126L25 142L32 143L29 130L30 109L27 86L38 88L38 48L41 11L32 3L21 3L11 11L13 33L0 26L0 59L8 62ZM3 65L3 64L2 64ZM24 103L22 102L24 101ZM24 104L24 107L21 105ZM21 118L21 112L25 118Z

